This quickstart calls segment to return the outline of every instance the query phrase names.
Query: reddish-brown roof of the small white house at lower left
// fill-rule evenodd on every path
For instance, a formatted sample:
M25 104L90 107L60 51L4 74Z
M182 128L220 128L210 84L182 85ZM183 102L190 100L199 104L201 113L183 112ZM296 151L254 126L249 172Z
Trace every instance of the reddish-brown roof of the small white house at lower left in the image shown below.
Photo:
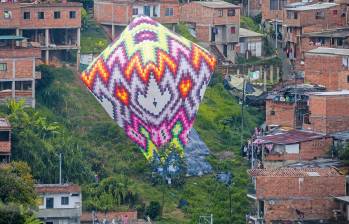
M37 193L80 193L81 188L77 184L37 184L35 185Z

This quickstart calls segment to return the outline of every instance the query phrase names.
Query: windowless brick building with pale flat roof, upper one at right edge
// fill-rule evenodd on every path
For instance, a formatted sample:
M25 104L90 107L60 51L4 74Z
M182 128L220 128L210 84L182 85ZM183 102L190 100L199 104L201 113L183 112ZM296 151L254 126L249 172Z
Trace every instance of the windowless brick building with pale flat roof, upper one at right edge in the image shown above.
M319 47L306 52L304 80L330 91L349 89L349 49Z

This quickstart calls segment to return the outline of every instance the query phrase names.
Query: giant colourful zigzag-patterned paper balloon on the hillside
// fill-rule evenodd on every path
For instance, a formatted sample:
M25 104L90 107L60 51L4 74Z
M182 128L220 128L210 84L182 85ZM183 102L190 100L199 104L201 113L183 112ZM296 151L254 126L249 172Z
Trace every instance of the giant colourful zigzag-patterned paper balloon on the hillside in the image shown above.
M81 79L147 159L183 154L216 59L149 17L135 18Z

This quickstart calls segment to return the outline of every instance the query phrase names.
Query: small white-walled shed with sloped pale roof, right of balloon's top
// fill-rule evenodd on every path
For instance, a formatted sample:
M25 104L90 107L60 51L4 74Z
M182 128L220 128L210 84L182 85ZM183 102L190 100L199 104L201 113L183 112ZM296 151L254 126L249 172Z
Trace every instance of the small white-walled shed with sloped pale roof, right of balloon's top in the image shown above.
M249 56L262 56L263 34L240 28L240 53Z

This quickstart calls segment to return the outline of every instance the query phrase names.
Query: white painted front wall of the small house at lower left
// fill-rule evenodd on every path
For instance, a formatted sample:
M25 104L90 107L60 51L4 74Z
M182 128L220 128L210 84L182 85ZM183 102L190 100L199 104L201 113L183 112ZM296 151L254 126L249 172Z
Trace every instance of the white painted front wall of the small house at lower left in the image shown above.
M80 208L81 207L81 193L79 196L72 196L70 193L62 194L45 194L40 195L43 198L43 204L39 206L39 209L46 209L46 198L53 198L53 208ZM61 198L69 197L69 204L62 205Z

